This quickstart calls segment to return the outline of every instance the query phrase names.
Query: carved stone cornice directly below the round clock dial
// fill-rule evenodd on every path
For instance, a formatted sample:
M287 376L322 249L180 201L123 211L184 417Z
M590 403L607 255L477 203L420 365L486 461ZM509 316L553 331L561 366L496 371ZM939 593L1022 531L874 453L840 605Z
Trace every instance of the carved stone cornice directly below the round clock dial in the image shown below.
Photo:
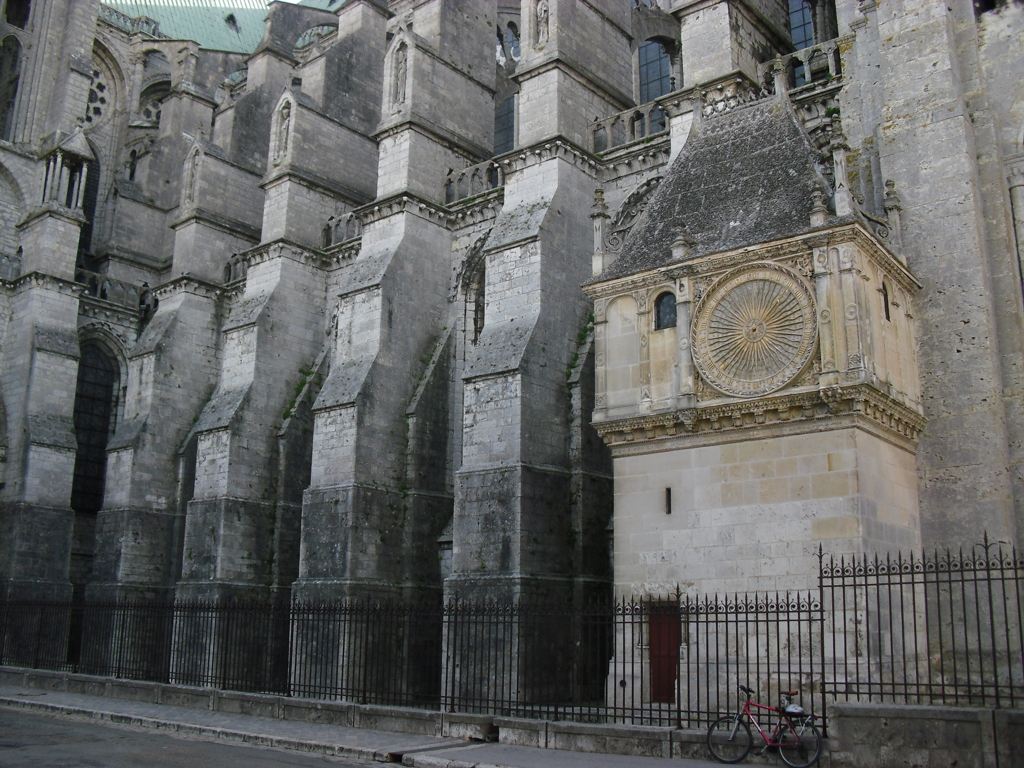
M718 435L739 440L749 438L742 432L783 426L794 428L788 431L806 432L822 428L822 422L843 426L851 419L869 424L876 433L909 450L927 423L916 411L869 385L857 384L595 421L593 426L613 451L632 443L638 445L637 453L649 453L656 450L651 442L659 440L671 439L673 447L682 447L683 443L703 443Z

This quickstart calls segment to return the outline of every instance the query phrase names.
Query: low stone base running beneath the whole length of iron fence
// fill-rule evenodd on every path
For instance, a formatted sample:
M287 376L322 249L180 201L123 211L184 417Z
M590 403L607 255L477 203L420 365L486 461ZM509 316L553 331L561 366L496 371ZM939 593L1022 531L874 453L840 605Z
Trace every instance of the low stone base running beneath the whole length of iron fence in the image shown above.
M352 728L449 738L493 739L548 750L708 759L703 731L591 725L402 707L240 693L166 683L0 667L0 685L85 693ZM1024 710L836 703L821 768L1018 768L1024 766ZM749 762L777 765L774 755Z

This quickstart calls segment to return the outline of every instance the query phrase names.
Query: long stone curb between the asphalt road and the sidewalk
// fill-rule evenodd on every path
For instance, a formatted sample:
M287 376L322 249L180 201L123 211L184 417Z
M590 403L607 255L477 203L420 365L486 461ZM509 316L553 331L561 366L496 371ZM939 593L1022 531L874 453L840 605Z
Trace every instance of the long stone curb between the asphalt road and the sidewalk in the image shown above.
M140 728L152 728L155 730L171 731L187 736L206 736L227 741L240 741L258 746L272 746L280 750L292 752L314 753L317 755L328 755L339 758L352 758L355 760L370 760L378 763L397 763L404 753L379 752L360 746L344 746L323 741L306 741L287 736L268 736L253 731L237 731L229 728L219 728L212 725L197 725L195 723L175 723L168 720L158 720L157 718L141 717L138 715L122 715L116 712L103 712L101 710L86 710L80 707L69 707L66 705L51 705L44 701L26 701L20 698L0 696L0 707L14 710L31 710L52 715L63 715L66 717L87 718L90 720L104 720L117 725L133 725ZM419 748L423 749L423 748ZM434 748L443 749L443 748ZM413 748L409 752L416 752ZM438 761L442 762L442 761Z

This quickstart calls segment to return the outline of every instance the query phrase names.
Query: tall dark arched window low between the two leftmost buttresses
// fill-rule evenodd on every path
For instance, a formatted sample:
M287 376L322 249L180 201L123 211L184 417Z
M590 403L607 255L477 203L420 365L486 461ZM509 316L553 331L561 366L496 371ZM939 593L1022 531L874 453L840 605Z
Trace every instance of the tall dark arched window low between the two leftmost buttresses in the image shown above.
M78 452L71 492L71 507L77 513L94 515L103 506L106 442L114 426L117 382L117 365L111 356L98 344L82 344L75 389Z

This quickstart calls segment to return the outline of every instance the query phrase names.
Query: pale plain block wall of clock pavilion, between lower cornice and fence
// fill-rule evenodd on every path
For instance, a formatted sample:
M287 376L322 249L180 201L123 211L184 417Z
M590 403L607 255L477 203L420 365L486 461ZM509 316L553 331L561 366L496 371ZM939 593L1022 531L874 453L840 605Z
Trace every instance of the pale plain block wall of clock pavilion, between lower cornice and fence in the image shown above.
M618 592L813 589L819 545L851 553L920 546L912 451L853 424L771 431L615 452Z

